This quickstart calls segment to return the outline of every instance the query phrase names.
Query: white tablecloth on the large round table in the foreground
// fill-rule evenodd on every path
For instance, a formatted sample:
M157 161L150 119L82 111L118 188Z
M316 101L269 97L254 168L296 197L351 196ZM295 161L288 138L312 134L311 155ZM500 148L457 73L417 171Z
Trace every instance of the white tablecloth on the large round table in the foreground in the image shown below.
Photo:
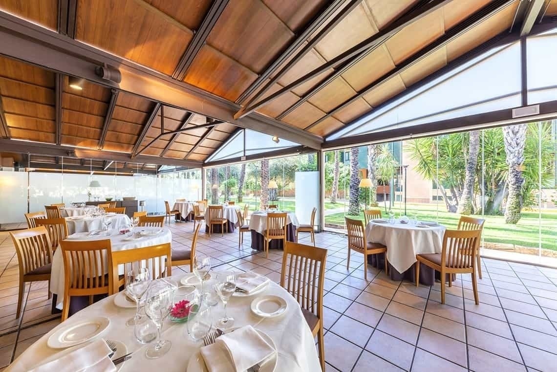
M172 278L178 280L183 275L174 275ZM277 366L275 372L320 372L319 359L311 336L309 327L304 320L294 297L290 296L276 283L271 283L262 295L277 295L285 298L288 307L285 314L276 318L263 319L253 315L250 311L251 301L256 296L232 297L228 303L228 315L234 317L234 326L245 326L251 324L255 329L265 332L271 337L277 347ZM222 303L213 308L213 319L223 314ZM163 339L172 341L172 347L166 355L160 359L146 359L145 347L135 341L134 327L126 326L126 319L135 313L135 309L121 309L114 305L114 298L108 297L104 300L86 307L86 309L72 315L65 322L53 328L43 335L34 344L29 346L6 371L24 372L35 368L42 360L52 354L60 352L47 346L48 337L61 327L73 324L76 321L89 319L93 316L106 316L110 319L110 325L100 337L105 340L123 342L128 348L128 353L134 353L133 357L126 361L122 371L165 371L184 372L191 356L196 353L201 342L193 342L187 335L185 323L172 323L168 319L163 324ZM341 352L341 350L339 350Z

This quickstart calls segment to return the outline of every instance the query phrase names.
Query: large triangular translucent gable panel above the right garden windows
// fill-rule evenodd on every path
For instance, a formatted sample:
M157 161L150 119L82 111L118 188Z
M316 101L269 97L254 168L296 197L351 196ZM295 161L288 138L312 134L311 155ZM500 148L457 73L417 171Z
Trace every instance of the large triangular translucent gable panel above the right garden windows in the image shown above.
M520 44L494 48L401 96L328 139L521 105Z

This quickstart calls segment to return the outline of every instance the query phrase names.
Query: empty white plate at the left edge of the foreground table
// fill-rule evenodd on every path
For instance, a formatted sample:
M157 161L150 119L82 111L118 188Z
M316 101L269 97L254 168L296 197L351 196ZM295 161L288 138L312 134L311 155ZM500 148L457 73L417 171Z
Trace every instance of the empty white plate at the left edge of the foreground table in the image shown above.
M46 344L52 349L64 349L65 347L79 345L100 335L109 324L110 319L104 316L74 322L54 332L48 337Z

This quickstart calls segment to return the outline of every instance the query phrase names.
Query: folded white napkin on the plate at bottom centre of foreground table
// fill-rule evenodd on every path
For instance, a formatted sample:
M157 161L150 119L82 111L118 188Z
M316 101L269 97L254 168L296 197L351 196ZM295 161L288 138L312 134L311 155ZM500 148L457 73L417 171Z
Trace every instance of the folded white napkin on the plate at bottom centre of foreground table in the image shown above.
M243 372L275 353L251 325L222 335L199 351L209 372Z

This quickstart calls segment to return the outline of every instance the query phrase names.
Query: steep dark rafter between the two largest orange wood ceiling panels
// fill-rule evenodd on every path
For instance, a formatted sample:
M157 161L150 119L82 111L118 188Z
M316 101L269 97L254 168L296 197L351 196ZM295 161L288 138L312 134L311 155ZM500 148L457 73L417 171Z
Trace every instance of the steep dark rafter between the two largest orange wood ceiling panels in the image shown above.
M184 80L185 73L188 71L189 66L192 65L194 58L196 58L197 53L201 50L201 47L205 44L209 33L213 30L215 23L217 23L218 18L221 16L224 8L226 8L228 0L214 0L209 8L203 22L196 30L192 41L189 42L178 66L176 66L172 77L177 80Z

